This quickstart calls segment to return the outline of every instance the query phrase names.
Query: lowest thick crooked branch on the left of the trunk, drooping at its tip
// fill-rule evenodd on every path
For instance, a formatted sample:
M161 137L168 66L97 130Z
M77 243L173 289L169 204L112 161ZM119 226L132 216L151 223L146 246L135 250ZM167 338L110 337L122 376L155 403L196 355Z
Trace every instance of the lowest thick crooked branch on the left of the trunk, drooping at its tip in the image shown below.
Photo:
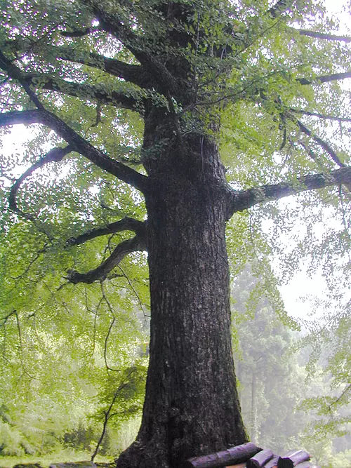
M133 237L133 239L128 239L127 241L123 241L119 243L119 245L114 249L112 254L110 255L105 262L102 262L95 269L91 269L87 273L79 273L75 270L69 270L67 279L69 283L77 284L77 283L88 283L91 284L94 281L104 281L107 275L117 267L119 262L128 255L128 253L136 252L138 250L146 250L146 243L144 236L140 236L137 234Z

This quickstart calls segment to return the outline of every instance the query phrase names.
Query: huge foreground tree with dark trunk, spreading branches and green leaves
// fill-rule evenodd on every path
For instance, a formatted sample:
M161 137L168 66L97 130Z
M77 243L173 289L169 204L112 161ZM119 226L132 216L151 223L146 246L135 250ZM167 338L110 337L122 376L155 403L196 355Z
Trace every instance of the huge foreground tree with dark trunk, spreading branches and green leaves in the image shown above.
M1 2L0 126L37 132L8 189L5 229L17 223L30 254L18 276L30 290L39 262L61 286L110 283L147 252L143 421L119 468L177 467L247 440L225 226L239 265L253 255L250 208L285 223L261 206L302 193L347 218L350 37L333 27L309 0ZM3 325L15 316L8 301Z

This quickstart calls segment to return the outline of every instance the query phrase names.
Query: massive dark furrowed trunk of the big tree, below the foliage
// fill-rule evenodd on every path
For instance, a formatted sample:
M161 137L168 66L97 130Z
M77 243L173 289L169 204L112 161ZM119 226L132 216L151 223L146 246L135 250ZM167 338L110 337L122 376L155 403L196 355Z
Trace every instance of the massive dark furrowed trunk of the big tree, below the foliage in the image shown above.
M146 198L150 367L142 426L119 468L178 467L247 440L232 360L224 168L214 142L180 142L172 128L164 115L145 128L145 149L156 138L160 147L145 161L155 187ZM162 147L160 135L172 144Z

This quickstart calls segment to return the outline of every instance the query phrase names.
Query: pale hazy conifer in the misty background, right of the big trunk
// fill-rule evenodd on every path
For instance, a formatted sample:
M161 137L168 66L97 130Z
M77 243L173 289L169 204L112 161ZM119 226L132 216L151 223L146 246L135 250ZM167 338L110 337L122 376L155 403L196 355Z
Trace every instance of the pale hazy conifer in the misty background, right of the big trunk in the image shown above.
M310 420L298 411L308 392L306 373L294 352L297 335L277 318L267 297L260 295L247 309L259 281L246 267L232 285L241 410L251 441L284 453L298 444Z

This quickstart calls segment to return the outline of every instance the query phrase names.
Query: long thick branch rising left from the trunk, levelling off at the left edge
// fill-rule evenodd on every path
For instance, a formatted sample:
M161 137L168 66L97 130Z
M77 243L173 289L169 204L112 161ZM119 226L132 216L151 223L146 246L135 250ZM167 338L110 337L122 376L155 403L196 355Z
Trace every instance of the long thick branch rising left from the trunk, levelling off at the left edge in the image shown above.
M18 123L42 123L52 128L63 140L67 141L72 151L81 154L99 168L116 176L127 184L133 185L133 187L140 190L140 192L147 191L148 181L145 175L134 171L134 169L118 161L114 161L114 159L102 153L100 149L93 147L88 141L84 140L84 138L70 128L67 123L51 112L34 109L0 114L0 126L15 125Z

